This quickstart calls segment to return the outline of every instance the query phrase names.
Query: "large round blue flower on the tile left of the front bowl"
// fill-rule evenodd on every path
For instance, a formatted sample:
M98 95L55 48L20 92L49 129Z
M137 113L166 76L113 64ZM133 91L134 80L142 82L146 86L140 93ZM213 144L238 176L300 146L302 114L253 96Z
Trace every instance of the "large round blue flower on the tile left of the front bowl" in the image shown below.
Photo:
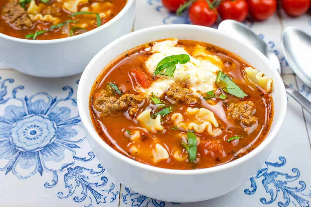
M4 80L5 82L6 80ZM0 115L0 170L12 171L18 178L26 179L39 172L62 172L75 163L77 143L76 128L80 119L71 108L77 106L72 99L71 87L65 99L53 98L47 93L3 99ZM3 91L6 92L6 89Z

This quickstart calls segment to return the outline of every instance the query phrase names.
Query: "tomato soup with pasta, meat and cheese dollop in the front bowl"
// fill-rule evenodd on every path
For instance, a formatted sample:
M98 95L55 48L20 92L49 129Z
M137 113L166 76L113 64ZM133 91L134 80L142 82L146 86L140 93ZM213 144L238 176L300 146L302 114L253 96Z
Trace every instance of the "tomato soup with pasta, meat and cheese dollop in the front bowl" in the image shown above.
M224 164L252 151L273 118L272 79L211 44L165 39L118 56L98 76L90 112L100 137L169 169Z

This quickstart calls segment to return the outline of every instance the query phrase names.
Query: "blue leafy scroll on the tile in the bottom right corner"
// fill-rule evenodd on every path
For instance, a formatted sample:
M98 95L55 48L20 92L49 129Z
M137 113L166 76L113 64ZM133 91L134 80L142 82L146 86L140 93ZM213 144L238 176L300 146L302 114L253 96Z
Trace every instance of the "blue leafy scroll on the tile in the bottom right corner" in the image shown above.
M304 199L303 196L309 196L310 198L311 194L306 195L302 193L302 191L304 191L306 188L305 182L299 181L298 184L294 185L295 187L291 187L292 185L290 185L290 182L296 181L300 176L300 171L297 168L293 168L291 170L293 174L269 170L269 166L279 168L285 165L285 157L279 157L279 160L281 162L265 162L261 169L257 171L256 175L250 178L251 189L245 189L244 193L247 195L253 195L257 191L256 180L259 178L263 178L262 186L265 188L270 198L267 199L265 197L262 197L260 199L260 202L262 204L274 203L278 198L279 192L281 192L283 194L282 198L285 201L277 202L278 206L286 207L289 206L290 203L292 203L294 206L309 207L309 201L307 199Z

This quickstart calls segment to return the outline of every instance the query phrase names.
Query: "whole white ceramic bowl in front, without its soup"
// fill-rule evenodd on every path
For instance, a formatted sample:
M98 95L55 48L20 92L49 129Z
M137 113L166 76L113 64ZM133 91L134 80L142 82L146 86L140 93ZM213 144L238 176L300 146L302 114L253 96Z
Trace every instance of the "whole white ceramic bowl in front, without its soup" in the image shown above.
M93 127L89 111L90 91L97 75L105 65L126 50L165 38L197 40L225 48L273 79L274 118L266 139L257 148L237 160L216 167L175 170L139 163L115 151L100 138ZM270 154L287 106L282 79L262 53L217 29L195 25L150 27L118 38L104 47L86 66L77 93L78 110L86 136L107 171L133 191L170 202L215 198L234 190L250 178Z

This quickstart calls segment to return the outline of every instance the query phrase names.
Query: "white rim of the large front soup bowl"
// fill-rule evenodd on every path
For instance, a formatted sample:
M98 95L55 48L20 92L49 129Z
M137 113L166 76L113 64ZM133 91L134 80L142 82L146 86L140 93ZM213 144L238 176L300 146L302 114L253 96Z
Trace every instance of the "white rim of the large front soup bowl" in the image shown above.
M148 164L143 164L141 162L132 160L131 158L121 154L120 152L116 151L114 148L112 148L111 146L109 146L104 140L102 140L100 138L100 136L98 135L98 133L96 132L93 123L86 123L87 119L90 118L90 111L89 111L89 107L87 107L86 109L82 108L83 105L83 98L79 98L79 97L85 97L82 94L81 91L83 89L81 88L85 88L84 85L89 84L88 82L88 73L91 72L93 65L97 62L97 60L104 55L110 48L114 47L114 45L119 44L120 42L124 42L127 38L133 37L133 36L138 36L141 33L144 32L152 32L153 30L157 30L157 29L206 29L206 30L210 30L212 32L216 32L216 33L221 33L222 35L224 35L226 38L231 39L232 41L237 41L238 43L248 47L250 50L252 50L257 56L259 56L263 61L265 62L269 62L269 60L267 59L266 56L264 56L258 49L256 49L255 47L249 45L249 44L245 44L242 41L240 41L239 39L234 39L232 37L230 37L230 35L225 34L224 32L218 30L218 29L214 29L214 28L209 28L209 27L204 27L204 26L197 26L197 25L184 25L184 24L176 24L176 25L159 25L159 26L153 26L153 27L148 27L145 29L140 29L137 31L134 31L132 33L129 33L127 35L124 35L123 37L120 37L116 40L114 40L112 43L108 44L106 47L104 47L103 49L101 49L93 58L92 60L89 62L89 64L86 66L86 69L84 70L84 72L81 75L80 78L80 82L78 85L78 90L77 90L77 105L78 105L78 111L80 114L80 118L81 118L81 122L84 126L84 130L86 130L88 132L89 135L91 135L91 137L89 137L90 139L94 139L95 142L97 142L97 144L101 147L104 148L106 151L108 151L111 155L113 155L116 159L122 160L123 162L135 166L137 168L140 168L142 170L148 170L148 171L152 171L152 172L156 172L156 173L164 173L164 174L170 174L170 175L199 175L199 174L207 174L207 173L215 173L218 171L222 171L225 169L229 169L229 168L233 168L239 164L242 164L244 162L246 162L247 160L252 159L255 155L257 155L258 153L262 152L272 141L273 139L276 138L276 134L278 133L278 131L281 128L281 125L283 123L283 120L285 118L285 114L286 114L286 108L287 108L287 98L286 98L286 92L285 92L285 86L281 79L280 74L276 71L273 70L272 67L270 67L273 75L276 77L273 82L274 83L278 83L277 87L279 88L280 92L281 92L281 97L280 99L283 100L281 101L281 105L279 106L278 110L280 113L280 117L278 122L276 122L275 119L273 119L273 122L275 126L274 128L270 128L269 133L267 135L267 137L265 137L265 139L255 148L253 149L251 152L249 152L248 154L240 157L239 159L236 160L232 160L228 163L225 164L220 164L214 167L209 167L209 168L202 168L202 169L167 169L167 168L160 168L160 167L156 167L156 166L152 166L152 165L148 165ZM191 38L190 38L191 39ZM127 49L125 49L126 51ZM122 52L121 52L122 53ZM243 58L243 57L242 57ZM95 80L94 80L95 81ZM92 82L93 85L94 82ZM88 92L87 97L90 96L89 94L90 92ZM89 100L89 99L88 99Z

